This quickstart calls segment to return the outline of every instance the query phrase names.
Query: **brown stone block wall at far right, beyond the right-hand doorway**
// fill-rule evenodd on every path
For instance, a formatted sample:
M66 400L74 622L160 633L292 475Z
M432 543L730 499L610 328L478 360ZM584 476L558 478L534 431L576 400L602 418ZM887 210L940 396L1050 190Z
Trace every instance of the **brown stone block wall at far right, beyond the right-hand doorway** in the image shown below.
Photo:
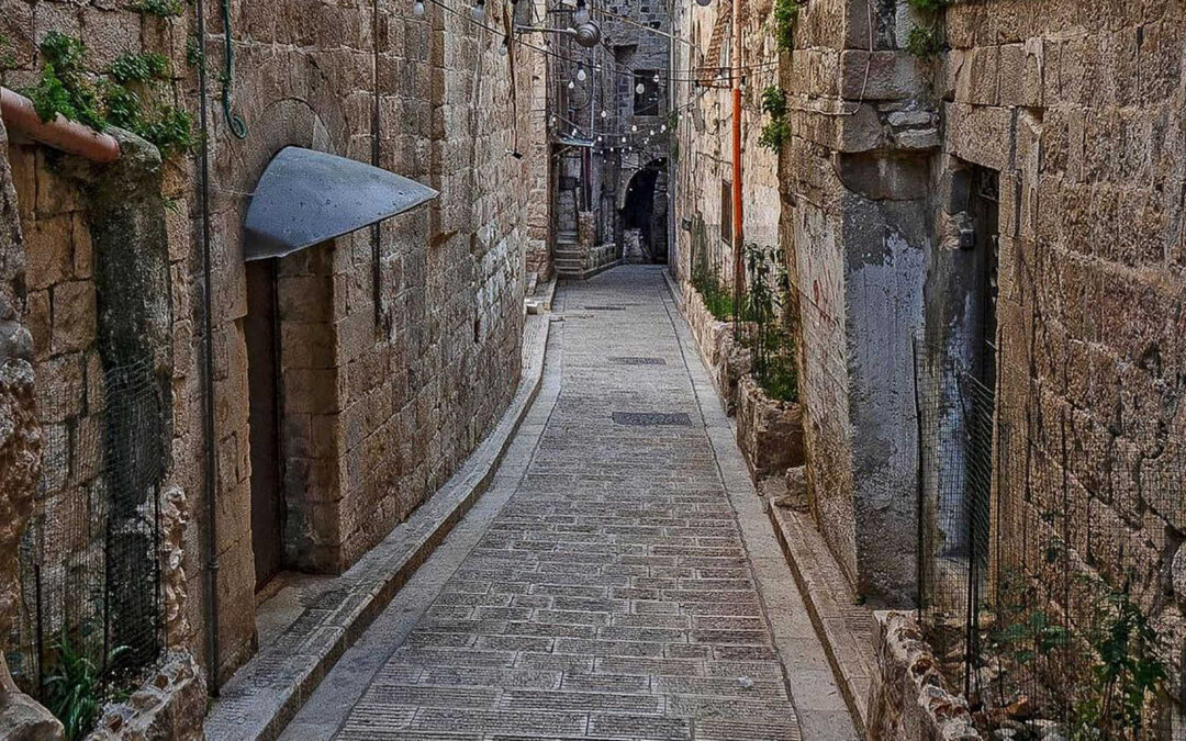
M1065 518L1072 561L1124 587L1180 662L1186 595L1166 575L1186 538L1186 7L1002 0L944 15L938 177L952 196L937 221L968 218L963 171L999 175L1002 422L1056 459L1071 451L1070 512L1037 478L1061 480L1058 460L1027 472L1009 456L999 535L1019 543L1057 511L1046 526Z

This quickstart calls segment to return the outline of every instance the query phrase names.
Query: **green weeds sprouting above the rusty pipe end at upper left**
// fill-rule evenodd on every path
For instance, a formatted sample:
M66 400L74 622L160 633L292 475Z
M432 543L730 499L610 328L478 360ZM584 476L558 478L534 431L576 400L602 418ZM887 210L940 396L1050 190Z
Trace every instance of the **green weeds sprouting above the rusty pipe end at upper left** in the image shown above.
M123 55L106 76L87 71L87 47L77 38L50 32L42 41L42 77L25 94L37 115L62 115L95 130L117 126L141 136L161 154L189 152L197 143L192 116L168 103L168 58Z

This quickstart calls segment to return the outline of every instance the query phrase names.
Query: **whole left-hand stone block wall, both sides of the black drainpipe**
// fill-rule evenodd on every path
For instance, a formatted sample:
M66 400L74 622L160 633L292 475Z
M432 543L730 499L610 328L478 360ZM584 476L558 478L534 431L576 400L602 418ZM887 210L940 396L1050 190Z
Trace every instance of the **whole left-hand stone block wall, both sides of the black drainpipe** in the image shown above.
M247 124L246 139L238 139L222 111L222 19L217 4L205 7L209 36L193 41L209 65L210 200L203 212L196 156L166 159L158 190L171 206L159 242L168 255L171 344L161 352L172 358L166 373L170 481L184 491L186 509L199 515L184 519L190 599L186 619L178 622L186 626L184 635L171 645L187 647L210 669L205 612L211 595L204 576L213 538L219 566L215 673L224 681L255 651L242 222L268 161L285 146L302 146L375 161L441 192L431 206L374 232L319 247L315 270L296 257L281 272L281 315L287 315L281 351L289 360L283 397L293 413L283 430L293 443L286 466L292 474L288 563L331 571L357 560L447 480L511 398L519 373L527 256L533 244L533 254L538 253L549 228L547 210L530 204L546 202L540 193L548 170L537 113L544 68L538 55L516 47L503 56L502 37L467 17L429 6L416 18L410 4L384 0L232 1L231 100ZM487 9L491 23L502 19L500 2ZM0 2L0 37L11 41L12 56L9 64L0 51L9 68L2 82L33 84L40 68L37 44L57 30L88 44L95 72L125 51L165 53L176 100L197 122L198 70L186 53L195 27L189 5L180 15L160 18L125 5L7 0ZM95 295L88 282L88 234L77 218L85 204L59 186L46 149L14 145L6 151L15 166L20 221L33 235L27 318L38 388L63 401L90 401ZM208 504L206 223L213 523L200 516ZM535 268L542 264L537 260ZM326 313L308 313L321 309ZM57 421L45 422L52 433Z

